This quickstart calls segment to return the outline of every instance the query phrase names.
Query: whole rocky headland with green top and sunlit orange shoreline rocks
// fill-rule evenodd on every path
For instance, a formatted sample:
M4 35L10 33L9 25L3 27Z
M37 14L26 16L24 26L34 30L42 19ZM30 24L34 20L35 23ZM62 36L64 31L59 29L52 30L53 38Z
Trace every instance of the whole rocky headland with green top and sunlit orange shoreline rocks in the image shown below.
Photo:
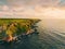
M4 41L15 40L20 35L30 35L36 32L34 25L38 23L40 20L0 20L0 33L5 34L2 37ZM0 34L1 35L1 34Z

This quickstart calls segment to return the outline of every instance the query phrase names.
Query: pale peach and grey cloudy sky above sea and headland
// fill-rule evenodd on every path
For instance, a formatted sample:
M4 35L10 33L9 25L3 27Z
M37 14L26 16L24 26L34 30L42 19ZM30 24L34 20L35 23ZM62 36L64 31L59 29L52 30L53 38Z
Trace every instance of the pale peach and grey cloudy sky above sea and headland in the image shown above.
M65 0L0 0L0 17L65 19Z

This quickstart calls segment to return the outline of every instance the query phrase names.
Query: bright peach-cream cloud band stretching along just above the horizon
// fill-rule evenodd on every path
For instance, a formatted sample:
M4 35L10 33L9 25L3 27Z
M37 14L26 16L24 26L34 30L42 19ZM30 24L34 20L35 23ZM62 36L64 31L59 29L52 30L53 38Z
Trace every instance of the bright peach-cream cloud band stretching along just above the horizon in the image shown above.
M22 7L11 9L9 8L5 11L4 9L3 11L0 11L0 17L65 19L65 9L52 8L52 7L42 8L39 5L35 7L35 9L22 8Z

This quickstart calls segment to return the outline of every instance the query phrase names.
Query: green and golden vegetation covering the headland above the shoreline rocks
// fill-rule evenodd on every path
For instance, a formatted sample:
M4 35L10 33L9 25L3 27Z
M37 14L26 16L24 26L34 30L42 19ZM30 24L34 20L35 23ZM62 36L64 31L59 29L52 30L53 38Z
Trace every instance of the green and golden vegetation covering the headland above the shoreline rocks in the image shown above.
M38 19L0 19L0 39L26 34L40 20Z

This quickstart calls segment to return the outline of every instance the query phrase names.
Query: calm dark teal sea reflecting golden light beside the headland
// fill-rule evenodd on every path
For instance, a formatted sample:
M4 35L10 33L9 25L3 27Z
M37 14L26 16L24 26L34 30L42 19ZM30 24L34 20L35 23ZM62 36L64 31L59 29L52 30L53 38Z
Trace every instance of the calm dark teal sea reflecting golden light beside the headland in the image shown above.
M34 34L17 44L0 45L0 49L65 49L65 20L41 20L39 35Z

